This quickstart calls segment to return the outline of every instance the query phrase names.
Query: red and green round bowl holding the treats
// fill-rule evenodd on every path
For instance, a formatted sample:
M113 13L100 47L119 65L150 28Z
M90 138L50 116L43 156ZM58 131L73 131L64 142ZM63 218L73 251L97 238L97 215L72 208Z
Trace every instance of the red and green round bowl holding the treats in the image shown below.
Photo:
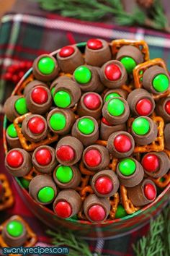
M84 53L84 48L86 43L78 43L76 46L79 50ZM60 49L54 51L50 55L55 56ZM27 83L32 75L32 68L24 74L24 77L19 81L17 86L14 88L12 95L21 95L24 84ZM4 116L4 150L5 153L8 152L8 145L6 142L6 127L8 125L8 120ZM91 223L89 221L81 221L75 218L61 219L55 216L53 210L46 208L43 205L40 205L38 202L30 197L26 189L24 189L22 183L18 178L13 178L17 192L22 197L27 207L32 211L32 213L37 216L43 223L50 226L51 229L57 230L58 226L63 226L66 229L74 231L74 234L85 239L97 239L102 238L115 238L119 236L124 236L125 234L131 233L140 229L142 226L145 226L151 218L157 216L158 213L163 210L165 205L169 201L170 195L170 184L161 192L156 200L151 202L146 207L138 210L137 212L125 216L124 218L117 218L111 221L105 221L104 223Z

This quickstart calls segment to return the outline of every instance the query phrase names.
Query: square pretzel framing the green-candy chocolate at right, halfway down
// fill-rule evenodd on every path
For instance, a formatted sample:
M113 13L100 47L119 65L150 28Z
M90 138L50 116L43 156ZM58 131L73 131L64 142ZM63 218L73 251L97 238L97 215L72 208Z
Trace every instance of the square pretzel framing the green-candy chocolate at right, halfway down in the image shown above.
M149 145L135 145L133 153L147 153L151 151L160 152L164 150L164 119L162 119L161 116L156 116L154 113L151 116L151 119L157 124L158 135L156 140ZM128 119L128 132L130 132L133 120L133 117Z

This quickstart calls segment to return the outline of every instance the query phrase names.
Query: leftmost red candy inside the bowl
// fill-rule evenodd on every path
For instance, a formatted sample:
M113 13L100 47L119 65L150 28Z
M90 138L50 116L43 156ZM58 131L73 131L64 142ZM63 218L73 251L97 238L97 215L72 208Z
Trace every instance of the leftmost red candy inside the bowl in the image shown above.
M19 166L22 165L24 158L22 153L20 153L18 150L12 150L6 156L6 161L9 164L9 166L13 168L18 168Z

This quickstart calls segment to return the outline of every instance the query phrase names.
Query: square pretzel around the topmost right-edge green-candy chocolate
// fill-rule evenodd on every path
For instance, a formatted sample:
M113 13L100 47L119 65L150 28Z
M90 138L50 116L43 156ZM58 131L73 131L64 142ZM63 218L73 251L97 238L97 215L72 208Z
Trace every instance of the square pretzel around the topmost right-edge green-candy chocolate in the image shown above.
M160 59L160 58L151 59L149 61L138 64L138 66L136 66L133 69L135 88L143 87L143 82L142 82L143 81L143 73L146 71L146 69L148 69L149 67L153 67L155 65L162 67L163 69L166 70L166 72L168 72L164 60ZM167 95L169 95L169 93L170 93L170 90L167 90L165 93L152 94L152 95L153 95L154 100L158 100L160 98L166 97Z

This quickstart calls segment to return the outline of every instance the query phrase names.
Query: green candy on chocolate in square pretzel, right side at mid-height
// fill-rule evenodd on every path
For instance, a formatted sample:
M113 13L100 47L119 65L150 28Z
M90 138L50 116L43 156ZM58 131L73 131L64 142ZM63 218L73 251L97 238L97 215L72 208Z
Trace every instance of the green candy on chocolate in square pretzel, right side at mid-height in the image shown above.
M146 135L150 129L149 121L144 117L138 117L133 121L132 129L136 135Z

